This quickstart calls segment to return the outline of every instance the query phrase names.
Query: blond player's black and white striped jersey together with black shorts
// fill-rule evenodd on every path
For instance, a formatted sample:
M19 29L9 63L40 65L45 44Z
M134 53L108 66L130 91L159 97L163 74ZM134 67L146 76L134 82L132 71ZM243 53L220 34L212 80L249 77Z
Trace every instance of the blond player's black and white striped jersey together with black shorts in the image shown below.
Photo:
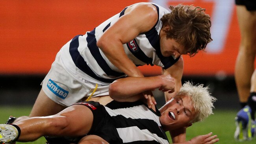
M97 135L110 144L169 144L160 124L160 112L148 109L140 101L112 101L106 106L93 101L76 104L93 113L93 125L87 135ZM77 144L82 137L45 138L49 144Z

